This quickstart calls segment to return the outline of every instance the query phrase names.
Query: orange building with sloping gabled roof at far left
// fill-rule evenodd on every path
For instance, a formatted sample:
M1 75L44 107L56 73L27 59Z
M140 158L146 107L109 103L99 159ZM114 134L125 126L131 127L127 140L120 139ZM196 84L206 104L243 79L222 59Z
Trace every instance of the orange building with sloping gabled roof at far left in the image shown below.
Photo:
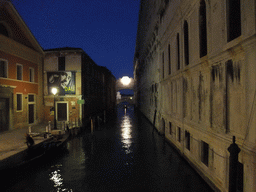
M43 120L44 53L10 1L0 1L0 132Z

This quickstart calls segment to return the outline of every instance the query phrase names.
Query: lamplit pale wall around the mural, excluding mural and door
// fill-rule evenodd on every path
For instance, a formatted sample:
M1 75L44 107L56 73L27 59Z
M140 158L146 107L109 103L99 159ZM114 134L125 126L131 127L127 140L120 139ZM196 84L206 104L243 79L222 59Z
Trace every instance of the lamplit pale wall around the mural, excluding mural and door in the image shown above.
M56 97L57 102L68 103L67 121L75 122L82 119L82 106L77 104L82 99L82 54L72 50L49 51L45 53L44 59L44 102L45 121L52 121L51 107L53 96L48 93L47 72L58 72L58 57L65 56L65 71L75 72L76 92L75 95L63 95Z

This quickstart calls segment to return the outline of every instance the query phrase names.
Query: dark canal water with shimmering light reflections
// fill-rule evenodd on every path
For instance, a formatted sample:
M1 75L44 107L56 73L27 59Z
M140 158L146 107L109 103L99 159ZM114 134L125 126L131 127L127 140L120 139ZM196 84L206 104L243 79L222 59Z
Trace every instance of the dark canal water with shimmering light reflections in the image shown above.
M117 117L70 139L67 148L10 173L5 191L212 191L132 106ZM1 191L1 187L0 187Z

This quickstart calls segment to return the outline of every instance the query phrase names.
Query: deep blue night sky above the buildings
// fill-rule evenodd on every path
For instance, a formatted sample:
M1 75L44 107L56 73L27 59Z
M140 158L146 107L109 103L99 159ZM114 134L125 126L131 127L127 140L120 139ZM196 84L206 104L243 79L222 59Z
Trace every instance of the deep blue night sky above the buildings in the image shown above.
M82 48L118 79L133 77L140 0L12 0L43 49Z

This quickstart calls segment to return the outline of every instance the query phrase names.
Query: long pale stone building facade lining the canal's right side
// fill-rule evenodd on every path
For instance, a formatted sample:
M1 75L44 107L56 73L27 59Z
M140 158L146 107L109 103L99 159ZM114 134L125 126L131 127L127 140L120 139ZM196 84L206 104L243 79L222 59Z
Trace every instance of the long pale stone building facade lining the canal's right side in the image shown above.
M238 191L256 191L256 2L141 0L137 107L196 170L228 191L232 137Z

